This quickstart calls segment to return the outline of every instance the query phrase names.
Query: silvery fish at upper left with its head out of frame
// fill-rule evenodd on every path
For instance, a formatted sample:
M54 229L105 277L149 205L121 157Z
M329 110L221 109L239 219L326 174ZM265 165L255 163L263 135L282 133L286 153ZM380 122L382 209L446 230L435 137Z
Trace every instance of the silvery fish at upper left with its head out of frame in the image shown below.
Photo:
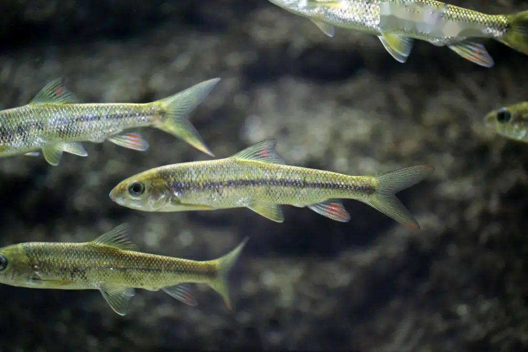
M145 151L148 142L139 127L155 127L214 156L187 119L220 81L215 78L194 85L171 97L150 103L79 103L55 79L42 88L29 104L0 111L0 157L37 156L42 150L51 165L59 165L63 152L88 156L82 141L109 140L121 147Z

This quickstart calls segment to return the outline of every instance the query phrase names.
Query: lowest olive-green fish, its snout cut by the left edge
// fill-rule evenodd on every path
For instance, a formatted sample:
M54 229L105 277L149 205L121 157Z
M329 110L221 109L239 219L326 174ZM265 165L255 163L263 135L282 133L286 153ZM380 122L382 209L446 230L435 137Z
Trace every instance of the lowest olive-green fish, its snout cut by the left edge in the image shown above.
M99 290L126 315L135 289L162 290L196 306L188 283L209 284L231 308L228 273L248 239L215 260L195 261L138 252L122 224L84 243L26 242L0 249L0 283L33 289Z

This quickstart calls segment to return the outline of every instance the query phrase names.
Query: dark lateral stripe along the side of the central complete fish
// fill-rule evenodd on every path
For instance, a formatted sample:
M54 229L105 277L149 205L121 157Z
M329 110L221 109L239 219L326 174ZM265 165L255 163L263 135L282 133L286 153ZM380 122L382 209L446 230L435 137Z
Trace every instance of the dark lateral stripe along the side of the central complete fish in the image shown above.
M342 189L343 191L351 192L366 192L374 193L372 187L365 187L362 185L345 184L334 181L316 181L305 182L299 179L278 178L278 179L235 179L230 181L212 181L203 182L201 184L190 182L173 182L171 184L174 192L184 191L207 191L219 188L229 187L254 187L254 186L270 186L270 187L299 187L299 188L318 188L318 189Z

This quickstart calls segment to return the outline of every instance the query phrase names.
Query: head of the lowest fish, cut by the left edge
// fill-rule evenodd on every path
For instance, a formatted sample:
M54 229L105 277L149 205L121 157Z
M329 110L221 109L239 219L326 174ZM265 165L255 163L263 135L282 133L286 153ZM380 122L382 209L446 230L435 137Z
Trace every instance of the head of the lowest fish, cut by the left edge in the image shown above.
M27 286L35 270L21 244L0 248L0 282L11 286Z

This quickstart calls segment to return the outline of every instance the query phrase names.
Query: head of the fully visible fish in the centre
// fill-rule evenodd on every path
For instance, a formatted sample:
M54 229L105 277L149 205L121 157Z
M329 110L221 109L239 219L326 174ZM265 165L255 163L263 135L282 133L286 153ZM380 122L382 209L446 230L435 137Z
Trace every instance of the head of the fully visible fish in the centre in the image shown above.
M169 187L156 169L129 177L110 191L112 201L145 212L160 211L169 198Z

